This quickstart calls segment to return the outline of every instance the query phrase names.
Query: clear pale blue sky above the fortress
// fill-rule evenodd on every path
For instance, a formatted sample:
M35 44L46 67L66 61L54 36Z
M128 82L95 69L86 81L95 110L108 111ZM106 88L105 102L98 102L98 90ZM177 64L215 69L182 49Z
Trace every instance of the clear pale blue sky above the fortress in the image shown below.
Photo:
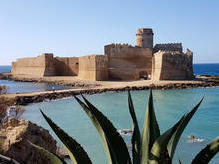
M182 42L194 63L219 63L218 0L0 0L0 65L52 52L103 54L104 45L135 45L137 28L154 42Z

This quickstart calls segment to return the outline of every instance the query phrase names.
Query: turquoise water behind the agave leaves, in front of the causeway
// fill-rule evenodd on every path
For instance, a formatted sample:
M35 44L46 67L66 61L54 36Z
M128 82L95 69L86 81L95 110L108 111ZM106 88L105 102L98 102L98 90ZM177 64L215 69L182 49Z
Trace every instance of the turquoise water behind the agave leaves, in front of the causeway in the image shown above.
M219 88L196 88L185 90L155 90L154 104L160 129L163 132L188 112L204 96L205 99L189 126L183 133L175 159L184 164L192 158L212 139L219 136ZM148 91L132 92L135 110L142 128ZM115 125L117 129L131 129L128 112L127 93L108 92L86 95ZM73 98L28 105L23 117L49 129L42 118L39 108L51 117L61 128L73 136L88 152L94 164L104 164L106 156L94 126L81 107ZM52 135L54 135L52 133ZM202 143L189 143L188 136L194 135L204 139ZM130 144L130 136L124 136ZM176 163L176 161L174 162ZM211 163L219 163L217 155Z

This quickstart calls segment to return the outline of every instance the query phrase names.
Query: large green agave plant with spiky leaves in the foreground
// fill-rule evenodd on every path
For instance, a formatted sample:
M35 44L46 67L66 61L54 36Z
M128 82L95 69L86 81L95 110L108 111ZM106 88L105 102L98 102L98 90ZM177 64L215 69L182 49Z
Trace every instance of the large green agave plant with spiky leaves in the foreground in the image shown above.
M171 164L179 139L188 125L189 121L198 110L200 102L170 129L163 134L155 116L152 91L150 91L148 108L145 114L145 121L140 133L137 117L132 102L132 97L128 91L129 112L132 118L132 159L130 158L127 146L113 124L104 116L93 104L91 104L83 95L82 100L74 96L76 101L88 115L103 143L109 164ZM74 164L91 164L86 151L81 145L60 127L58 127L49 117L41 111L43 117L50 125L55 134L63 142L68 150L69 156ZM53 164L64 163L57 155L32 144L35 148L45 153ZM192 161L192 164L208 163L219 151L219 138L207 145ZM181 163L181 161L179 161Z

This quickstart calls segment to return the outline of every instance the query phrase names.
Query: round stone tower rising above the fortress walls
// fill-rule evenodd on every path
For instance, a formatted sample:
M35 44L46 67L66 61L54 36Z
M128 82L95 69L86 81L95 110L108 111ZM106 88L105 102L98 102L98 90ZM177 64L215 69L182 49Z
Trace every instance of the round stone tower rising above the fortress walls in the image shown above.
M151 28L139 28L136 34L136 44L142 48L153 49L154 33Z

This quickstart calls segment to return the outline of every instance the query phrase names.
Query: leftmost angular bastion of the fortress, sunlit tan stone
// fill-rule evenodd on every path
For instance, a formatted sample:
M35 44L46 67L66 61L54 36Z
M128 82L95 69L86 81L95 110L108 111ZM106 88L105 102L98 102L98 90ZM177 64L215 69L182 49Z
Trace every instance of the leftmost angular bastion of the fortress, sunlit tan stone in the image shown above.
M12 63L12 75L29 75L33 77L52 76L55 70L52 54L42 54L33 58L21 58Z

